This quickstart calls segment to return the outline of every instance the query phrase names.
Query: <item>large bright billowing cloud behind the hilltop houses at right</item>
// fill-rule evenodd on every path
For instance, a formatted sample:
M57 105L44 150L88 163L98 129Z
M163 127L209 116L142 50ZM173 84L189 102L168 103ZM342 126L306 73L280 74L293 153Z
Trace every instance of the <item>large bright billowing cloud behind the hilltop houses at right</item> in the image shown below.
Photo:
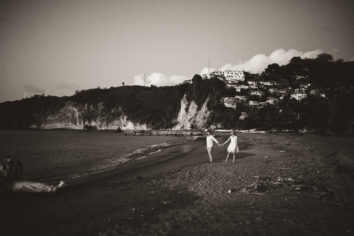
M299 52L295 49L285 51L284 49L280 48L270 53L269 56L264 54L257 54L256 56L253 56L249 61L239 62L236 65L227 63L221 67L221 70L246 70L251 71L252 73L261 73L264 71L264 68L268 67L269 64L277 63L279 65L285 65L289 63L290 59L293 57L316 58L317 55L322 52L323 51L319 49L311 52Z

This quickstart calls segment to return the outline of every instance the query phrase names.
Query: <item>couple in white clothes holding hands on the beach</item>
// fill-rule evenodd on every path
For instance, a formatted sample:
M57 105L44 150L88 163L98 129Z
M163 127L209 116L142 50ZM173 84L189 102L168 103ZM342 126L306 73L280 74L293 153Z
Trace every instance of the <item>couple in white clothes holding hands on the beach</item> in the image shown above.
M237 139L236 131L234 129L232 129L231 136L223 144L219 144L219 142L214 138L214 136L211 135L211 131L210 130L207 131L206 149L208 150L208 154L209 154L209 159L210 159L209 163L213 163L214 162L213 161L213 157L211 155L211 152L213 150L213 141L216 142L219 146L223 146L224 144L229 142L229 140L231 140L231 142L230 142L230 144L229 144L229 146L227 148L228 154L227 154L225 163L227 163L227 160L229 159L230 153L232 153L234 155L234 160L232 161L232 163L234 163L235 162L235 154L239 152L239 146L237 145L238 139Z

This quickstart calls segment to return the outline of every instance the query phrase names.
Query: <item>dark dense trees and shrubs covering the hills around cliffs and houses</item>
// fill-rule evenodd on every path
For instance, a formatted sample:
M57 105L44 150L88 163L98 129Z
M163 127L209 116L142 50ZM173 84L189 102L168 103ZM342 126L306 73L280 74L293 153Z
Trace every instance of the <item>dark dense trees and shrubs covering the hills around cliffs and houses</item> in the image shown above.
M279 66L270 64L260 76L245 71L245 81L276 81L274 88L291 88L293 91L306 86L307 98L300 102L291 99L287 94L277 105L251 109L238 105L236 109L223 105L224 97L247 95L247 91L236 92L234 88L225 88L223 81L217 78L202 80L194 75L192 82L176 86L144 87L120 86L111 88L94 88L76 91L70 97L35 95L29 99L0 104L0 128L28 128L33 124L40 125L50 114L56 113L67 102L81 107L84 122L91 122L95 116L107 117L106 122L125 114L134 123L147 124L152 129L169 129L176 125L176 117L181 109L181 99L185 95L185 104L194 101L198 108L208 100L207 109L212 111L205 117L205 126L219 124L222 128L272 128L316 129L318 132L352 133L354 125L354 62L341 59L333 61L330 54L319 54L315 59L293 57L288 64ZM296 79L295 75L302 75ZM310 84L308 86L308 84ZM265 96L250 96L251 100L265 102L268 97L279 98L278 95L264 88ZM319 90L326 94L310 95L311 90ZM101 109L98 109L101 107ZM97 114L99 110L100 114ZM188 107L186 108L188 111ZM249 117L239 120L242 112ZM85 123L84 123L85 124ZM190 128L196 128L193 124Z

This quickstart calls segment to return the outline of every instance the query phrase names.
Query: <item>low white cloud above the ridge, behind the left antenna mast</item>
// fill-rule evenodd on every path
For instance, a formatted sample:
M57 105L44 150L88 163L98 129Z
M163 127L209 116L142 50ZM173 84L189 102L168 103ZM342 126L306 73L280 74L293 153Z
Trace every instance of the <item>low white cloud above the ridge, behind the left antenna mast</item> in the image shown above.
M180 84L185 80L188 80L188 78L183 75L167 76L160 72L154 71L154 73L152 73L151 75L145 76L145 81L144 81L144 74L134 76L133 85L143 86L145 84L145 86L150 86L150 85L172 86L172 85Z

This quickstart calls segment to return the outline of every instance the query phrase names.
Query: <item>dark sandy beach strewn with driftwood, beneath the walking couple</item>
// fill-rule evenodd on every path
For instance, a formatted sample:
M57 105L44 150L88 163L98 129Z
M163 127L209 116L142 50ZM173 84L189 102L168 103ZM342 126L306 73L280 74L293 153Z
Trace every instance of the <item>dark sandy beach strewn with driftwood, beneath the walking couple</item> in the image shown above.
M219 143L229 134L217 134ZM1 192L1 235L354 235L354 139L205 137L68 181L50 194ZM343 168L343 166L345 168ZM255 188L256 186L256 188Z

